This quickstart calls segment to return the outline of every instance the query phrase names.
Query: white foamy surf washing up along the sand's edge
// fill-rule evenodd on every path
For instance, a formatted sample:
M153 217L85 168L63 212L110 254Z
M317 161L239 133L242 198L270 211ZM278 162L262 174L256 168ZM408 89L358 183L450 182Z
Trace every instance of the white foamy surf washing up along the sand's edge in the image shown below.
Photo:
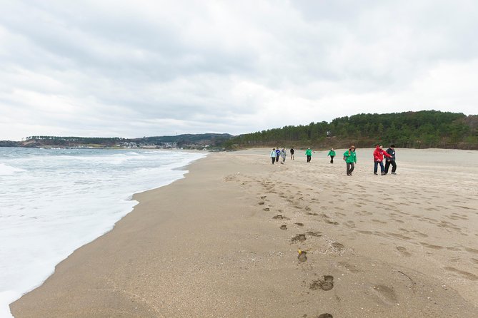
M125 188L122 187L124 187L125 185L129 185L129 183L116 183L116 186L114 186L114 188L111 188L111 184L114 183L114 176L109 174L108 178L113 180L113 182L109 182L107 188L104 188L104 192L101 192L101 187L96 187L94 191L89 189L89 193L87 191L84 191L86 195L75 195L76 198L74 201L72 201L71 199L67 201L62 201L60 193L59 197L56 197L56 202L51 202L49 207L47 206L47 209L52 209L53 211L58 210L59 214L65 208L76 209L73 210L73 212L70 212L69 215L72 216L70 217L70 219L74 219L75 217L77 219L79 219L80 217L83 218L77 220L80 222L79 225L74 225L76 224L76 222L71 222L71 225L65 222L65 227L56 225L56 227L58 227L57 230L52 231L48 235L45 235L47 236L47 240L51 242L51 244L49 245L41 244L38 246L38 248L34 248L36 247L35 242L43 240L43 237L41 237L41 235L38 235L33 230L29 231L28 227L24 227L24 232L28 233L29 237L35 237L34 235L36 235L35 240L9 240L9 237L15 237L15 235L5 235L6 247L10 247L10 250L12 250L12 252L6 253L2 251L4 252L2 253L2 255L6 255L6 257L4 257L4 262L2 263L2 265L4 265L2 266L2 269L4 269L3 274L4 277L6 277L6 280L2 282L4 283L2 284L2 287L4 287L4 292L0 293L2 304L2 309L0 310L0 317L11 317L11 314L9 314L9 304L11 302L16 301L23 294L31 292L31 290L40 287L44 283L44 281L48 279L48 277L54 274L56 265L58 265L63 260L66 260L72 253L74 253L82 246L87 245L89 244L89 242L96 240L97 237L100 237L105 233L110 232L114 228L116 222L121 220L124 215L127 215L128 213L132 212L134 210L134 206L138 203L136 200L134 200L134 195L136 195L136 193L143 193L147 190L161 188L166 185L169 185L170 183L173 183L175 180L184 178L184 175L188 173L187 166L198 158L204 158L205 155L206 154L201 153L194 154L193 152L179 153L179 156L181 158L169 160L170 162L167 164L161 164L159 174L154 174L151 172L148 173L149 175L145 175L144 173L129 173L129 175L131 175L131 178L121 179L129 179L132 182L130 186L126 186ZM131 155L129 156L129 158L131 158ZM156 165L156 158L164 157L154 156L153 158L155 158L155 160L151 163L152 165ZM113 168L116 170L115 165L113 165ZM101 176L99 177L99 174L97 173L95 173L94 177L90 178L96 178L96 180L101 180ZM141 180L134 180L134 178L141 178ZM21 180L21 177L16 178L16 180ZM76 181L71 181L70 183L73 182L76 184ZM81 181L79 183L81 183ZM13 186L13 188L15 187ZM101 197L98 198L100 193ZM33 195L34 194L30 195L30 202L32 202L32 198L34 198ZM94 203L90 202L94 200L96 200L98 204L95 205ZM91 209L81 208L84 207L83 202L89 202L86 207L90 207ZM70 204L71 207L68 206ZM51 213L51 211L47 209L42 211L44 215L48 215L49 212ZM91 217L91 215L94 215L94 213L91 213L90 215L86 216L81 215L81 213L84 211L95 212L96 216ZM34 216L31 217L37 217L34 214L34 211L32 211L32 215ZM54 214L51 215L54 216ZM67 219L67 216L68 214L62 215L64 220ZM51 218L54 219L54 217ZM7 222L6 225L4 224L4 227L5 226L6 228L8 228L9 223ZM37 226L41 226L41 224ZM84 231L82 231L83 229ZM15 234L14 230L12 230L12 232ZM64 233L63 237L65 237L67 240L56 240L56 237L62 237L61 233ZM81 235L79 235L79 233L81 233ZM19 234L22 233L20 232ZM69 238L71 237L73 238L69 240ZM17 245L19 248L18 250L14 251L13 246L16 247ZM32 257L31 255L35 253L36 257ZM8 255L11 255L11 257L8 257ZM18 265L14 265L14 263L18 263ZM40 267L37 265L40 265Z

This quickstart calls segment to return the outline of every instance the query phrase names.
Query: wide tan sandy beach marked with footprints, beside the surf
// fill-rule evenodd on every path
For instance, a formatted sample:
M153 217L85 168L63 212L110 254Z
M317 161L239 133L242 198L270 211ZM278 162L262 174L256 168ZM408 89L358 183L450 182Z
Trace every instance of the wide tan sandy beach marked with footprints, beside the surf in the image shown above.
M352 177L343 152L333 165L327 151L284 165L269 149L211 153L135 195L114 230L11 311L478 317L478 152L397 149L398 174L376 176L372 149L358 149Z

